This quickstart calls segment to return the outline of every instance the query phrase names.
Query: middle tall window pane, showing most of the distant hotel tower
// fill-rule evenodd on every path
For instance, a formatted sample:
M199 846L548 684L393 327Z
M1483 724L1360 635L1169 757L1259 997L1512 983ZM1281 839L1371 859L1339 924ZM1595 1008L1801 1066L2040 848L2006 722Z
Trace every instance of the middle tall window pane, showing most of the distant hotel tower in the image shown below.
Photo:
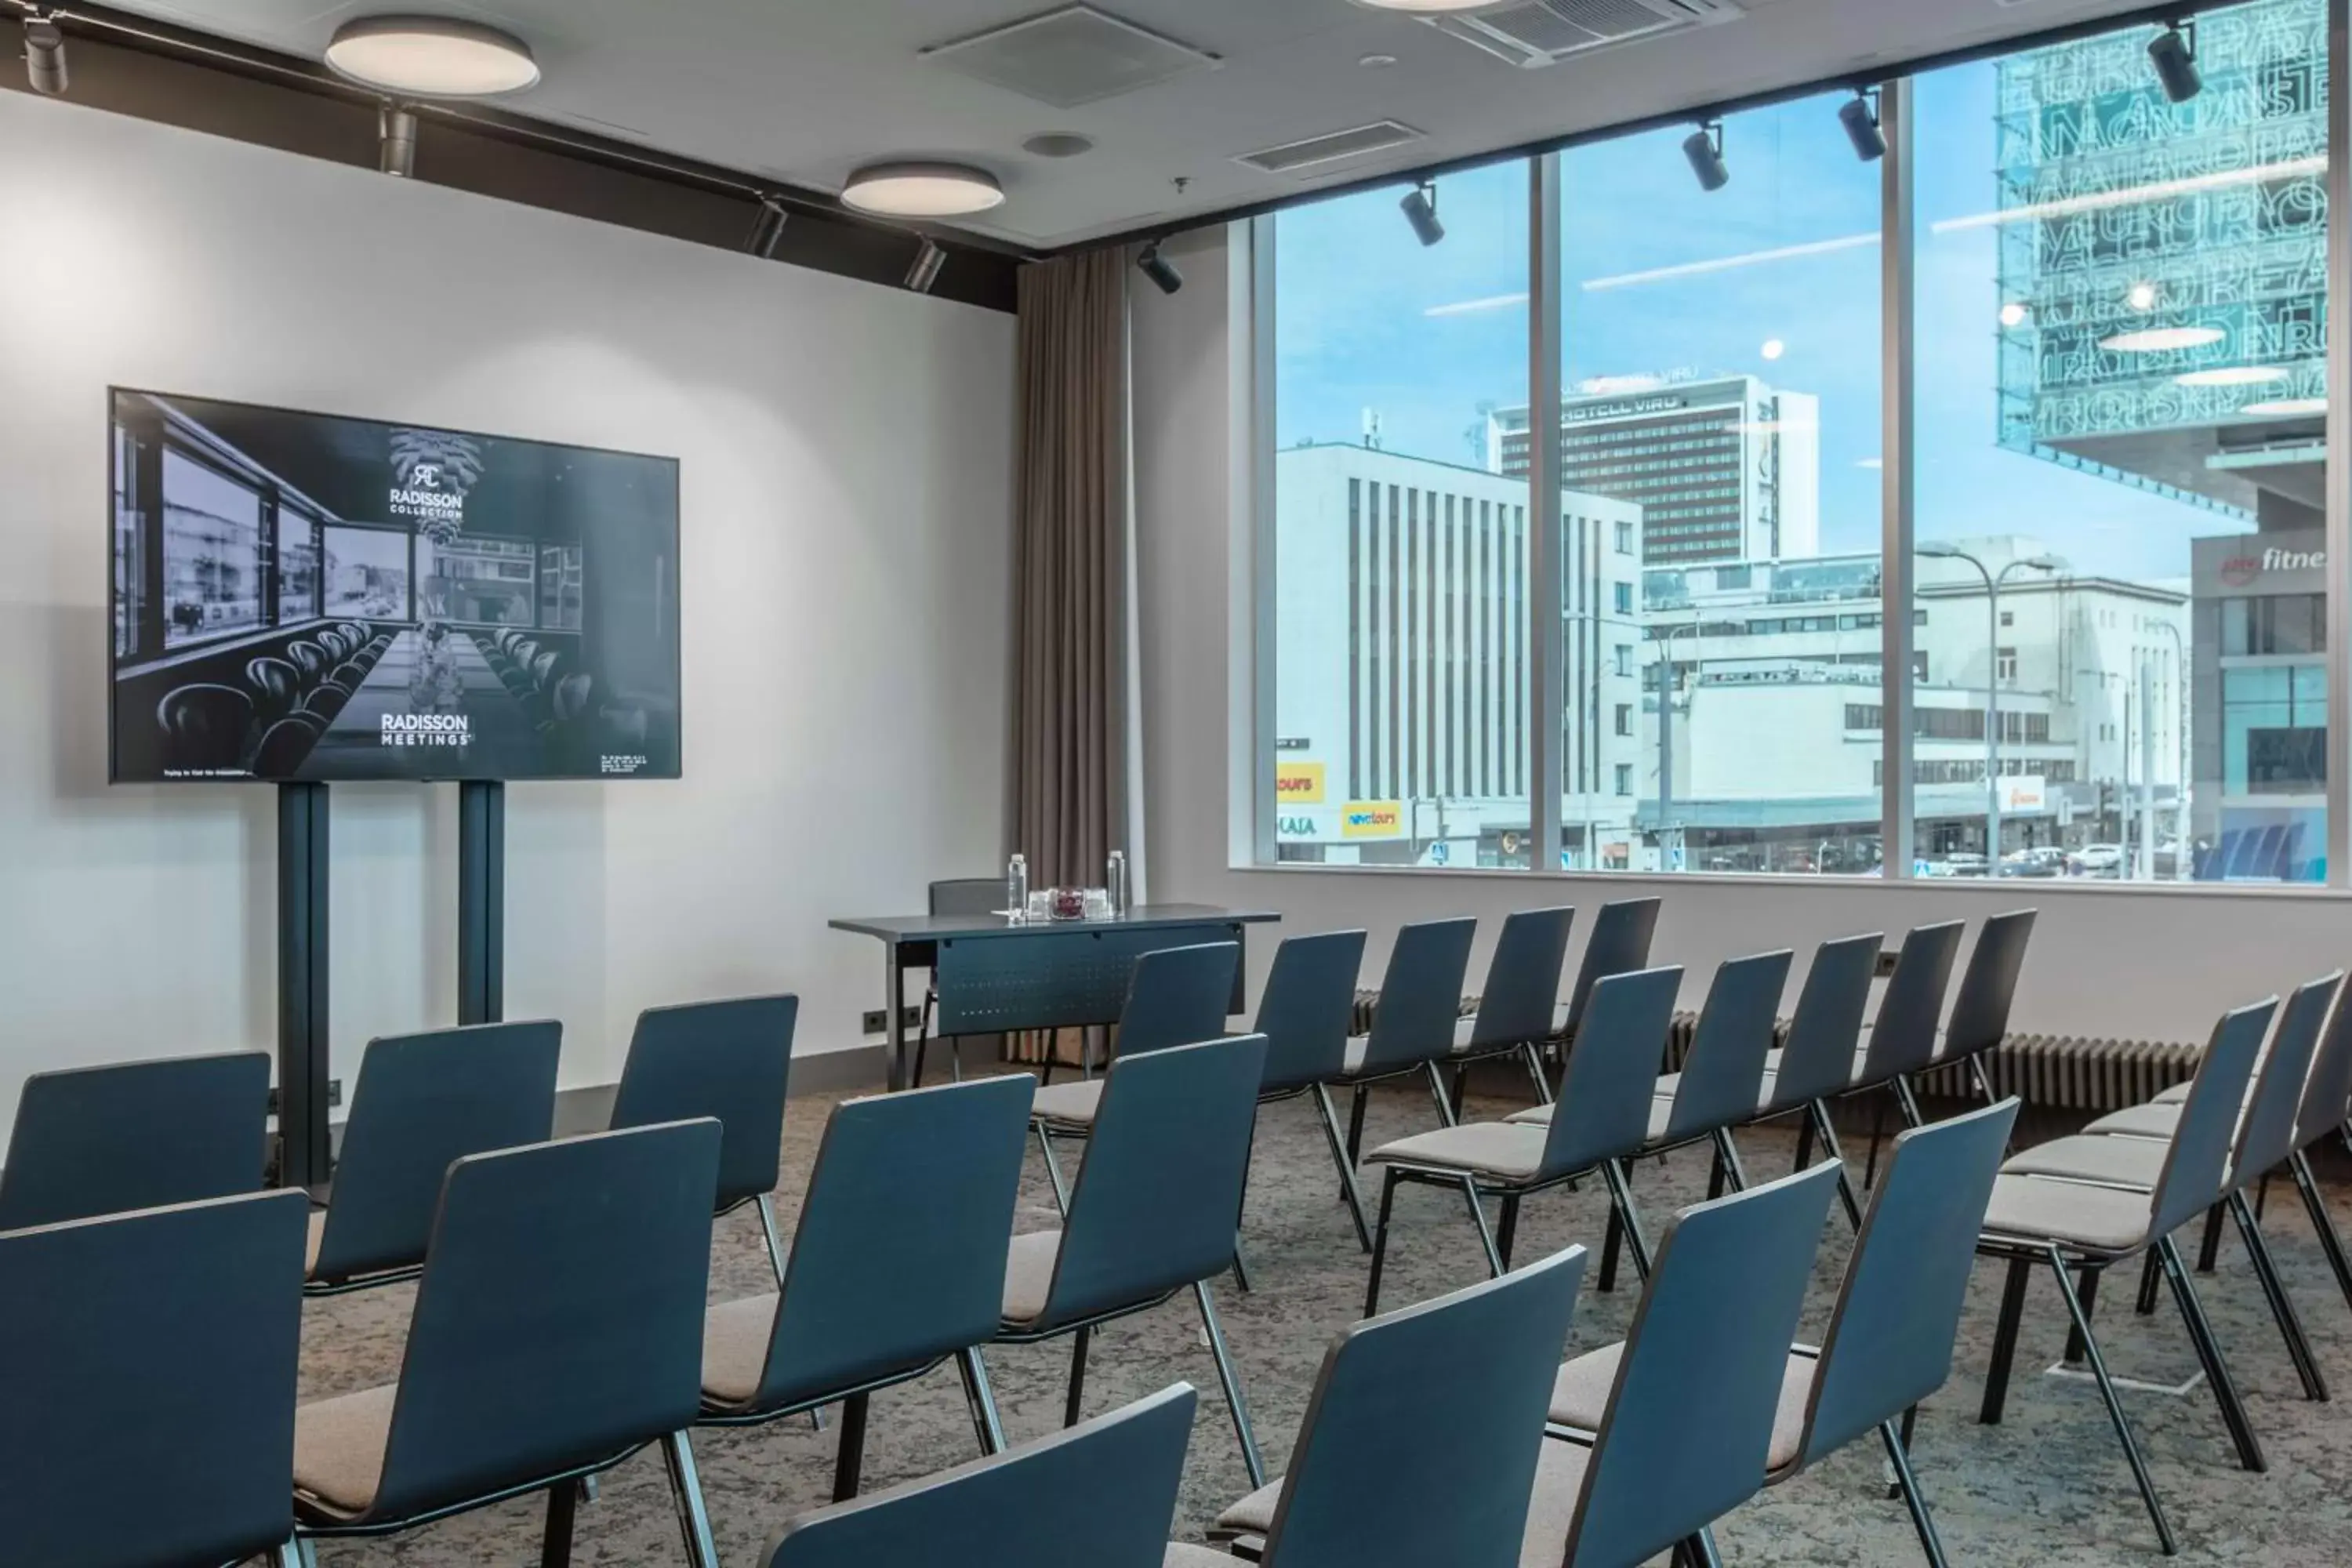
M1837 103L1729 118L1719 190L1689 127L1562 155L1562 865L1879 863L1882 197Z

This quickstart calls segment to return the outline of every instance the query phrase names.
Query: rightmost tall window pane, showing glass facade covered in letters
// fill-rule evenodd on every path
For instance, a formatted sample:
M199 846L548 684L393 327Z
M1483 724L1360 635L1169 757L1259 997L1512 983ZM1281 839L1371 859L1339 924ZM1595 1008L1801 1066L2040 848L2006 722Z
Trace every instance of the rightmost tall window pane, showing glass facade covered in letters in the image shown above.
M2046 724L1919 776L1926 875L2324 875L2326 33L2206 12L2187 103L2145 26L1915 82L1915 691Z

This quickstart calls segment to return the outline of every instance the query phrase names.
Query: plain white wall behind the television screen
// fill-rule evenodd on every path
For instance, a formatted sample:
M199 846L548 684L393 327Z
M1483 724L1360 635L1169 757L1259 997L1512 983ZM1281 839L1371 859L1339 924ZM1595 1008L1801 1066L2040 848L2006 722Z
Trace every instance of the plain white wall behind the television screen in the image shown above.
M612 1081L637 1009L800 990L995 865L1011 317L0 94L0 1107L275 1046L275 797L106 785L106 386L682 461L684 780L508 795L508 1018ZM334 802L334 1067L454 1020L456 790ZM0 1124L5 1126L5 1124Z

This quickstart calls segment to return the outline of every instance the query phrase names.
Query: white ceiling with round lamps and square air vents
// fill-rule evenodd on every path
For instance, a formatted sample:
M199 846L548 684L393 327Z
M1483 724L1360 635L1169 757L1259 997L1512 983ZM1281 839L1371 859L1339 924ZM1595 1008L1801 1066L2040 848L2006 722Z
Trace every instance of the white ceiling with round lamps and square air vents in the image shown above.
M1056 110L953 75L920 49L1061 0L120 2L313 59L355 14L475 16L539 54L546 80L503 101L517 113L823 190L875 158L962 158L1007 190L1004 207L969 228L1040 249L2143 7L1743 0L1748 16L1726 26L1522 71L1350 0L1096 0L1223 63ZM1367 68L1367 54L1397 63ZM1232 162L1381 118L1428 139L1312 176ZM1080 132L1096 148L1073 160L1023 153L1040 132Z

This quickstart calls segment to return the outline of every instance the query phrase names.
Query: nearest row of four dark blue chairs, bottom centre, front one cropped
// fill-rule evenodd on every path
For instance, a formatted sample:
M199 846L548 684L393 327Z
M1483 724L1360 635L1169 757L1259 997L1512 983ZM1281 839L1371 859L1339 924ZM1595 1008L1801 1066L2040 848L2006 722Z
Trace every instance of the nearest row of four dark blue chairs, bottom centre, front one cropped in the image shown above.
M1120 1067L1112 1067L1117 1077ZM1877 1434L1929 1563L1910 1413L1943 1387L2016 1100L1896 1140L1818 1347L1797 1324L1835 1168L1682 1211L1628 1338L1559 1363L1585 1248L1348 1328L1279 1481L1164 1544L1192 1427L1171 1387L1061 1436L786 1526L764 1568L1717 1566L1712 1526Z

